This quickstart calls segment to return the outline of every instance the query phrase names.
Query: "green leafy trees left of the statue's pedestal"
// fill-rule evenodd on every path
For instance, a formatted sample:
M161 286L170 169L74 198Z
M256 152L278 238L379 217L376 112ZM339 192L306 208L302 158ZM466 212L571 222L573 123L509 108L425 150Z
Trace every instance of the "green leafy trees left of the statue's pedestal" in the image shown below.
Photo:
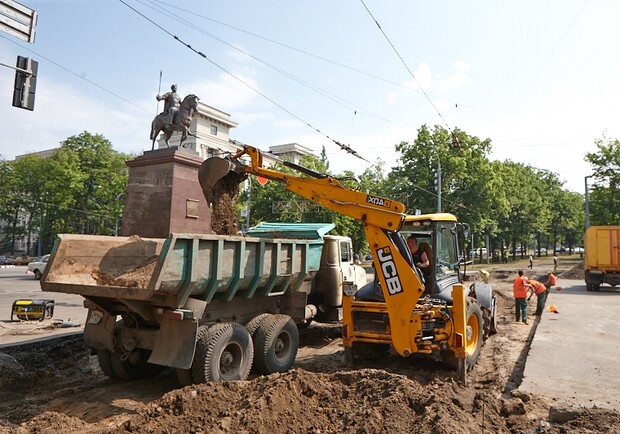
M50 251L59 233L113 235L129 157L103 136L83 132L50 157L0 162L2 251L13 253L15 240L23 238L27 253L39 254Z

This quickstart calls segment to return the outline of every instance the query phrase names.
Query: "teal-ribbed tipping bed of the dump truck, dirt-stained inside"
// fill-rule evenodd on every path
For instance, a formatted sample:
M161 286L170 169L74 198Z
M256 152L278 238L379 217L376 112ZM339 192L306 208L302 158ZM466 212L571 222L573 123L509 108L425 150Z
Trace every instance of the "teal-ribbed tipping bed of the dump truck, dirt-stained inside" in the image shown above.
M178 308L296 291L318 271L323 240L172 234L59 235L43 291Z

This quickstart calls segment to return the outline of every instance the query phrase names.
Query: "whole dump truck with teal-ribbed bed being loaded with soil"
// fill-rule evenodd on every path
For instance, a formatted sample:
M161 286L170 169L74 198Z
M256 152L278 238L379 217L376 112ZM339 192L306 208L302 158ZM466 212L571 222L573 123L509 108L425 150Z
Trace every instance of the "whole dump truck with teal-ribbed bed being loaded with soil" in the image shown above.
M333 224L263 224L246 236L61 234L43 291L79 294L84 342L131 380L175 368L181 384L284 372L298 326L342 318L342 283L366 283Z

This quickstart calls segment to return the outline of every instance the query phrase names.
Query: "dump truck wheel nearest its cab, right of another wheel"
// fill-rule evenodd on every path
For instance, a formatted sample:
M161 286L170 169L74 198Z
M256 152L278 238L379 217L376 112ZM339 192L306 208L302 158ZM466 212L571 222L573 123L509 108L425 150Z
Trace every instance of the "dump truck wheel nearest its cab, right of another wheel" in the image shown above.
M254 335L254 364L261 374L286 372L299 349L297 324L288 315L272 315Z

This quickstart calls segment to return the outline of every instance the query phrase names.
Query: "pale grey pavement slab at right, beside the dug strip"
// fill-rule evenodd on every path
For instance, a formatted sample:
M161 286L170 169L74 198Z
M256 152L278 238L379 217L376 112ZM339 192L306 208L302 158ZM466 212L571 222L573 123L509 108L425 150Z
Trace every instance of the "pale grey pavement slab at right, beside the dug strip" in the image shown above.
M545 312L534 324L520 390L573 407L620 410L620 288L586 291L582 280L559 279Z

